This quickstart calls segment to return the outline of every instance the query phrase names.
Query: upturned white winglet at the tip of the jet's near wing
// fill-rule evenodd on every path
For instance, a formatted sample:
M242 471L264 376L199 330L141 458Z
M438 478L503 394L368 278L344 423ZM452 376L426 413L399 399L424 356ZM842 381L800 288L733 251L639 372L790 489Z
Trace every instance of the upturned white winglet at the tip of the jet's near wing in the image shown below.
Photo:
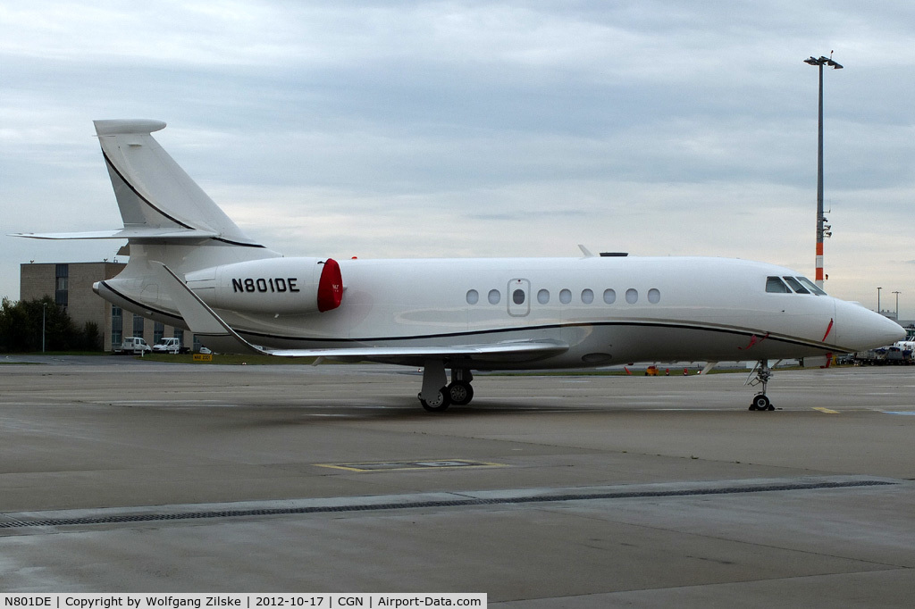
M184 317L190 331L200 338L200 342L214 351L223 353L267 355L264 349L255 347L222 321L221 317L165 264L155 261L150 263L158 275L161 287L171 297L172 302L178 307L178 313Z

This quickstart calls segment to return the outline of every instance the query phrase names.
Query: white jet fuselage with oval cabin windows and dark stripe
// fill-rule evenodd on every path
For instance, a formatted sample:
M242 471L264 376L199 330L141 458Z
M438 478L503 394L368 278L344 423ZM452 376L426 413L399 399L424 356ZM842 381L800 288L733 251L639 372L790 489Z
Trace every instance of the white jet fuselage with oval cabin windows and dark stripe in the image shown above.
M195 292L242 337L287 349L468 345L550 340L567 345L536 367L630 361L802 358L850 352L883 320L828 295L770 293L768 277L797 273L718 258L519 258L339 262L341 303L318 312L312 258L242 264ZM232 267L235 268L235 267ZM188 285L197 273L188 273ZM206 274L206 273L204 273ZM221 282L216 285L215 282ZM119 277L100 294L182 325L150 281ZM237 303L221 307L216 290ZM215 302L214 302L215 301ZM888 337L898 326L886 320ZM393 360L393 358L378 358ZM398 360L400 363L400 360ZM419 361L419 360L417 360ZM474 368L531 368L477 358Z

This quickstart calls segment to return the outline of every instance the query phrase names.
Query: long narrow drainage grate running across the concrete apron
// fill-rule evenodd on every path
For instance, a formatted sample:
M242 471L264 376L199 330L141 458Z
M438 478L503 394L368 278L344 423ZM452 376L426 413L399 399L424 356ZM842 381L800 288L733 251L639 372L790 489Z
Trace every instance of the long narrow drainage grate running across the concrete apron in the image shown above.
M435 501L391 502L371 505L312 506L302 508L222 509L200 512L164 514L133 514L84 518L44 518L35 520L0 521L0 529L23 527L66 527L72 525L116 524L124 522L159 522L166 520L191 520L200 518L244 518L250 516L287 516L294 514L323 514L333 512L381 511L385 509L463 508L471 506L500 506L525 503L554 503L558 501L587 501L594 499L637 499L645 497L696 497L708 495L736 495L741 493L769 493L773 491L814 490L822 488L849 488L855 486L888 486L895 482L883 480L857 480L848 482L797 482L759 486L717 486L681 490L639 490L607 493L566 495L531 495L527 497L492 497L467 499L442 499Z

